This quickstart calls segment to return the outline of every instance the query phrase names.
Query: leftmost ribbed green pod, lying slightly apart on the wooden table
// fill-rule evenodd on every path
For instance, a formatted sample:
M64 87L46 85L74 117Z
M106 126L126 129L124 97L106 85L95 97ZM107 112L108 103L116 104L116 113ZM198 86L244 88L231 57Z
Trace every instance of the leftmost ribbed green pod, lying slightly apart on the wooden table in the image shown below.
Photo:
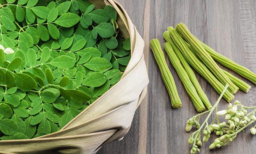
M153 51L157 65L160 69L165 87L167 88L167 91L169 93L172 107L177 109L181 108L182 106L181 99L179 97L173 76L166 64L165 57L164 57L159 40L158 39L151 40L150 47Z

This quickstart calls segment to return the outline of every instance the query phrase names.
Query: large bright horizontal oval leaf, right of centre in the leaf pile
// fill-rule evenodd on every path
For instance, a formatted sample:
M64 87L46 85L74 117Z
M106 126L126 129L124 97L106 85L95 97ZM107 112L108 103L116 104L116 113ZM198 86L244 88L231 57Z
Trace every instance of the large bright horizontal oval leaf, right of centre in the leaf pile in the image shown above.
M101 57L96 57L91 59L86 64L84 64L84 66L89 68L90 70L100 71L108 67L111 67L112 65L108 60Z

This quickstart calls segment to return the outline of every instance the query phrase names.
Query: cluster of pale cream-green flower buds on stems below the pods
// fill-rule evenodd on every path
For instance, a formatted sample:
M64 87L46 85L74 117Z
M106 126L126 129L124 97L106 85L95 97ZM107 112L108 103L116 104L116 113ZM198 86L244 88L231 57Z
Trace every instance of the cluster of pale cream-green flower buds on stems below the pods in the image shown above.
M187 121L187 126L185 128L186 132L189 132L192 129L193 125L195 125L195 127L198 129L195 132L193 132L188 138L188 144L193 144L192 149L190 151L191 154L195 154L196 152L200 151L198 147L202 146L201 136L200 136L201 130L203 131L204 143L209 140L210 134L212 133L215 133L216 135L220 136L219 138L216 138L214 142L209 146L209 149L214 149L216 147L221 147L223 145L226 145L232 142L236 138L238 133L240 133L247 126L255 122L256 106L247 107L242 105L239 101L235 101L234 105L229 103L227 109L217 112L217 105L219 103L219 100L216 102L216 104L213 106L211 110L208 110L196 116L193 116ZM211 123L208 124L207 121L215 109L216 109L216 117ZM247 111L248 109L254 109L254 110L251 112L248 112ZM200 126L199 119L203 114L206 114L206 113L208 113L208 116ZM220 122L219 116L225 116L227 123ZM251 134L253 135L256 134L255 127L256 125L250 128Z

